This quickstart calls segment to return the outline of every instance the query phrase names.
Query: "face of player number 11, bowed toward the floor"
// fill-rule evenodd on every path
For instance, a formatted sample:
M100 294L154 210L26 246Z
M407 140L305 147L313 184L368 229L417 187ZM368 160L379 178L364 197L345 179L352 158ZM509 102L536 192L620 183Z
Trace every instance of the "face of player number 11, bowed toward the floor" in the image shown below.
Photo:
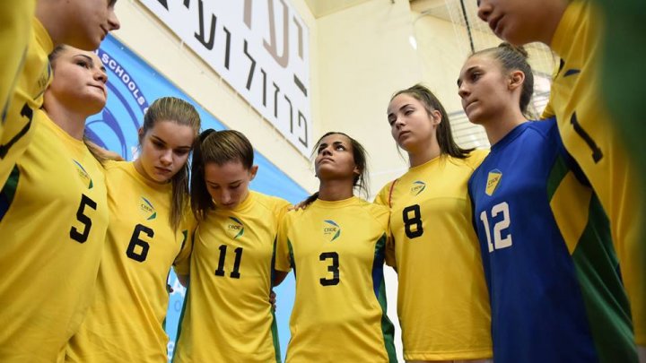
M257 165L245 169L240 160L227 161L223 165L209 162L205 165L206 190L217 208L235 209L249 195L249 183L257 172Z

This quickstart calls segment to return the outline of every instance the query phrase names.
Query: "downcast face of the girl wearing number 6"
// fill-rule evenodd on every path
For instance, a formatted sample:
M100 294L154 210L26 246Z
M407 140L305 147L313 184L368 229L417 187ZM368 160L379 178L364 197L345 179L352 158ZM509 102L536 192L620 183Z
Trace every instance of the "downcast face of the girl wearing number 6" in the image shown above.
M195 134L189 125L165 120L155 122L146 134L140 134L141 153L135 166L150 180L169 182L186 165Z

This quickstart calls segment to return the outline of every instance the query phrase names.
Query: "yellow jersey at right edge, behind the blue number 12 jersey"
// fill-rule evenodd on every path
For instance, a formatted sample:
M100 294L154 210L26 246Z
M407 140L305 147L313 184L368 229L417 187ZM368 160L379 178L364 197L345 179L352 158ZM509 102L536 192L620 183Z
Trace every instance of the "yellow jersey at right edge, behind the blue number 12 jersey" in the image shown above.
M565 148L581 166L607 212L633 310L635 341L646 345L642 185L600 94L601 20L590 1L573 1L563 14L551 44L562 62L543 117L556 117Z

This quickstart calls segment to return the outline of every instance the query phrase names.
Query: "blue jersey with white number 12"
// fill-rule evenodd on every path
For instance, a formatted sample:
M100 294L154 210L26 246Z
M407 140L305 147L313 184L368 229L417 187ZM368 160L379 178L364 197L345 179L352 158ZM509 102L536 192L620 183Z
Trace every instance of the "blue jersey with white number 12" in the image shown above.
M514 128L469 179L493 358L636 362L609 222L554 118Z

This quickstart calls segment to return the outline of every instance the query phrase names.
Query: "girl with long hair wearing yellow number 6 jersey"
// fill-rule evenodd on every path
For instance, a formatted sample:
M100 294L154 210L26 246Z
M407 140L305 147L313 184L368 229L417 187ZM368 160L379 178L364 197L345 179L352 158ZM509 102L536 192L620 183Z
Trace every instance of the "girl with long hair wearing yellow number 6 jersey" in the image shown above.
M166 281L188 253L187 162L199 127L187 101L157 99L139 129L139 158L106 163L110 223L96 298L65 361L168 361Z

